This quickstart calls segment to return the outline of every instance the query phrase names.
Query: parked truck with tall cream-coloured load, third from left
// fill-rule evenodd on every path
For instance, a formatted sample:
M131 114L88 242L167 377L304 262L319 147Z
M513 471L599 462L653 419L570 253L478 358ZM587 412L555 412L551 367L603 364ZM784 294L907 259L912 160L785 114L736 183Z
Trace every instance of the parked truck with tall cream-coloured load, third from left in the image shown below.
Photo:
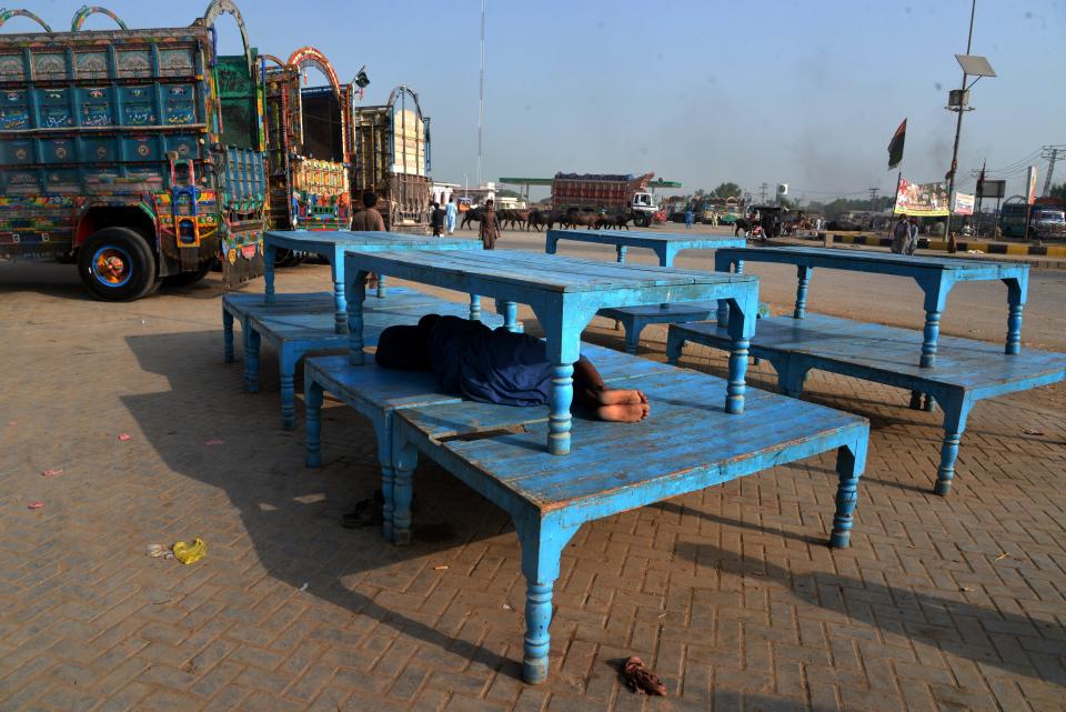
M385 230L425 234L430 225L430 120L419 96L400 86L382 107L355 107L352 97L352 197L378 193Z

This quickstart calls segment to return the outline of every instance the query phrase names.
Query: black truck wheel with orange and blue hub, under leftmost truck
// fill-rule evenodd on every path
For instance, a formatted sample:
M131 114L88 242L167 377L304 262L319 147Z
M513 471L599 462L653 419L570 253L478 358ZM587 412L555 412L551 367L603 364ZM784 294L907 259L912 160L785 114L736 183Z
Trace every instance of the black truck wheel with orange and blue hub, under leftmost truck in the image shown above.
M128 302L159 288L155 255L129 228L104 228L78 250L78 271L97 299Z

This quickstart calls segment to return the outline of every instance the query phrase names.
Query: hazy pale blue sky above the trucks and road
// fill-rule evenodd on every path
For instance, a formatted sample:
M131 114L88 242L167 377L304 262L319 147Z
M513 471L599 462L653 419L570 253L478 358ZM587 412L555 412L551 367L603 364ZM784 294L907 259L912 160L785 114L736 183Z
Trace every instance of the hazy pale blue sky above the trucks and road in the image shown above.
M202 2L105 0L131 27L185 24ZM21 4L21 3L10 3ZM53 27L81 0L36 0ZM366 103L406 83L432 118L433 176L474 182L480 0L239 0L253 46L321 49L344 81L366 64ZM195 10L190 8L194 7ZM886 148L908 118L906 178L943 179L969 0L487 0L482 178L637 173L686 189L787 182L807 199L891 192ZM14 22L23 22L17 19ZM95 17L87 29L109 27ZM22 27L21 24L19 27ZM223 49L235 24L219 22ZM998 73L963 120L962 188L1066 144L1066 0L978 0L972 53ZM311 83L324 83L311 72ZM1046 161L1038 161L1043 185ZM1066 163L1058 177L1066 180ZM992 177L992 176L990 176ZM1020 171L1008 171L1010 193ZM1009 193L1008 193L1009 194Z

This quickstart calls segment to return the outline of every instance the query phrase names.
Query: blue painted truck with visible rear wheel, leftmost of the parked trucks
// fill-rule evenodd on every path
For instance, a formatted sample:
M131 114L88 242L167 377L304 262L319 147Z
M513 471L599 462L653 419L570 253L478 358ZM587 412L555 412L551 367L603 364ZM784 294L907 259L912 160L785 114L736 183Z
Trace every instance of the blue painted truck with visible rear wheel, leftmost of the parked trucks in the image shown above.
M102 13L117 30L82 31ZM233 16L244 53L217 51ZM0 33L0 258L78 264L99 299L192 283L220 259L227 287L262 273L263 92L240 11L129 29L82 8L69 32Z

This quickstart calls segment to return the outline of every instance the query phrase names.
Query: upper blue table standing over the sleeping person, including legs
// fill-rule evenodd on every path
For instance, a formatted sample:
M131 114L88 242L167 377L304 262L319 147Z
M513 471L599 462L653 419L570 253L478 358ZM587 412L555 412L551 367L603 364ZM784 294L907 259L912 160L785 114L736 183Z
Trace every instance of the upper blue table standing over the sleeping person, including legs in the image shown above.
M728 300L727 330L734 339L725 410L744 410L747 343L755 330L758 281L744 274L690 272L663 267L605 264L592 260L521 251L348 252L345 280L350 358L364 361L363 301L368 272L385 273L455 291L529 304L544 330L554 362L547 449L570 452L574 361L581 332L600 309Z

